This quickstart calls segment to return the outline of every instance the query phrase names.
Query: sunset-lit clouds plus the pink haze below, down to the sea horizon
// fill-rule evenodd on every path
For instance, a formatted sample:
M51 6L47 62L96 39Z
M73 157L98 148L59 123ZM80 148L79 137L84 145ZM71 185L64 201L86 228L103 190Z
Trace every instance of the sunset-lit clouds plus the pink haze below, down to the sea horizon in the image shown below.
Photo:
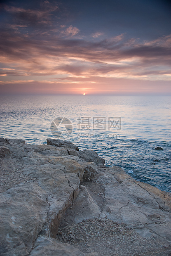
M86 37L60 19L53 23L59 6L48 1L40 9L5 9L14 22L1 28L2 92L151 93L162 92L160 83L170 93L171 35L140 41L97 31Z

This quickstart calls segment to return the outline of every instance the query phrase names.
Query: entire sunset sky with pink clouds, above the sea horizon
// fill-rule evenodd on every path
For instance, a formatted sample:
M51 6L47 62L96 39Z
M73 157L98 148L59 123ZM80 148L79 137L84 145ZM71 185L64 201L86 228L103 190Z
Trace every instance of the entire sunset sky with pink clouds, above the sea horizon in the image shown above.
M171 95L169 0L1 0L1 95Z

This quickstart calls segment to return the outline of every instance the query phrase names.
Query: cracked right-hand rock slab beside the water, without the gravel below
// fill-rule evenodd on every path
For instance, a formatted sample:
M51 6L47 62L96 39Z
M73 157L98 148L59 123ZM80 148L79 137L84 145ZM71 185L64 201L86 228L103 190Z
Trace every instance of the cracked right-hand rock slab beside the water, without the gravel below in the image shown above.
M170 246L171 194L134 180L118 166L98 168L94 182L83 185L63 225L105 217L152 238L160 247Z

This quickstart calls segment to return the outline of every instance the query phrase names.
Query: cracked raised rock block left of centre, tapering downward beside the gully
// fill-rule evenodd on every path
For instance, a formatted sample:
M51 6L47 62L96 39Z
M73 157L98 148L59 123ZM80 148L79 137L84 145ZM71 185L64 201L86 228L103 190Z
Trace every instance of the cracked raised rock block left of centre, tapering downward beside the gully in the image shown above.
M37 178L38 185L47 192L46 201L49 203L46 224L42 233L56 237L59 223L65 211L73 203L79 191L80 180L75 173L65 173L60 168L46 164L26 168L24 174Z

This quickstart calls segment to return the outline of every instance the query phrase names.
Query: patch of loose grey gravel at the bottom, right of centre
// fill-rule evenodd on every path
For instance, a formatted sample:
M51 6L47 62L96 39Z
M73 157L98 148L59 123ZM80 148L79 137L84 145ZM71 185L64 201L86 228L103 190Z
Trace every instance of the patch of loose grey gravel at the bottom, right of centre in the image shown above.
M98 256L170 256L171 248L154 239L142 238L125 224L106 218L83 220L59 228L56 239Z

